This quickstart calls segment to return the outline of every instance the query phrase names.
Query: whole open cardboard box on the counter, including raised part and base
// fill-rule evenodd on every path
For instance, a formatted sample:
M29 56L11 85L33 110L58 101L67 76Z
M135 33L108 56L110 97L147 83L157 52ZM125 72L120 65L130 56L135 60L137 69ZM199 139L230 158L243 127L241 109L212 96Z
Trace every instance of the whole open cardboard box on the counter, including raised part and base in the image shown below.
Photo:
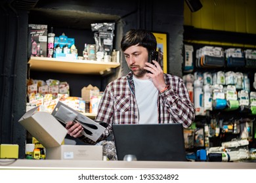
M46 148L46 159L102 160L102 146L63 144L67 130L49 112L28 110L18 121Z

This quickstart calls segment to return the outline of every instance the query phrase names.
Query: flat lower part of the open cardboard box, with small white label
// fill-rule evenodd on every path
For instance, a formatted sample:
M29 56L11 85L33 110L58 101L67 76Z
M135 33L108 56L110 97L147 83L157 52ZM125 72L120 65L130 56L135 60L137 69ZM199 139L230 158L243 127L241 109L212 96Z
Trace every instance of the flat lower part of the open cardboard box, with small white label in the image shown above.
M62 145L46 149L46 159L102 160L102 146Z

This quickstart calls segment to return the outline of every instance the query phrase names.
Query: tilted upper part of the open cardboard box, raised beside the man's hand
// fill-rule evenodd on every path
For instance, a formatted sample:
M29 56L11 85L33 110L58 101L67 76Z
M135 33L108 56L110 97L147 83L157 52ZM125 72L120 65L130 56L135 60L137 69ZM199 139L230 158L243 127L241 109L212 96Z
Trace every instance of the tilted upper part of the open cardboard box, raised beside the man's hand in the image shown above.
M32 108L18 122L45 148L60 146L66 137L66 128L49 112L37 112Z

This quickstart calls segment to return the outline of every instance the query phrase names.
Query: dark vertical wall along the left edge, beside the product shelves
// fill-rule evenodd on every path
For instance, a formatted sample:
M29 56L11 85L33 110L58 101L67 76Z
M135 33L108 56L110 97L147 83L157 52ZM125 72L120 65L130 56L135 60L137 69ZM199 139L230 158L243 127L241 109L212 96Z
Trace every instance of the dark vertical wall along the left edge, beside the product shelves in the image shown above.
M28 13L1 6L0 22L0 144L19 144L24 154L26 131L18 120L26 112Z

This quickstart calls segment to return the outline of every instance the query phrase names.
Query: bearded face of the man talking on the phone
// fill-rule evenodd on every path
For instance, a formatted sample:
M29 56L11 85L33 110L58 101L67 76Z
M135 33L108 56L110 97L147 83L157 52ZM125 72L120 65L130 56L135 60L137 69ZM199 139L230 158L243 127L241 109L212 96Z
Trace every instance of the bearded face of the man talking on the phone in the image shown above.
M146 75L146 70L143 69L148 61L148 50L142 46L130 46L123 54L128 67L137 78L143 78Z

